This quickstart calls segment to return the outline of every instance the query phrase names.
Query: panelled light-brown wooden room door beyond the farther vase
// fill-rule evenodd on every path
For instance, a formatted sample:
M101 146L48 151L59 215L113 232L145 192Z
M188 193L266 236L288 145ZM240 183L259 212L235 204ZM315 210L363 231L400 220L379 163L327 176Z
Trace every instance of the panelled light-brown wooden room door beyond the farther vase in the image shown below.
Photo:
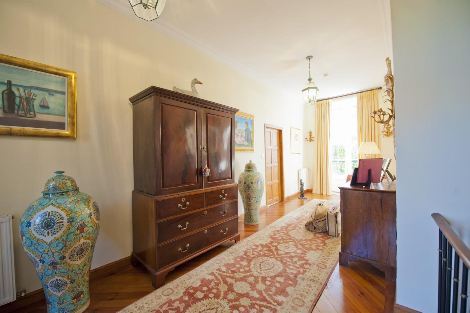
M265 124L266 205L284 200L282 128Z

